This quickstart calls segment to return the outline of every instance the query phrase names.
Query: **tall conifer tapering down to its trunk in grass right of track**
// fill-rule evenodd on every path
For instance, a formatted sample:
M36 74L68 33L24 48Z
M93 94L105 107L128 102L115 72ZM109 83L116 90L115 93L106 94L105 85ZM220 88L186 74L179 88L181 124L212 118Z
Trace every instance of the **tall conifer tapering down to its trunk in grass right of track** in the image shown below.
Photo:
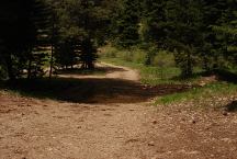
M183 76L191 76L202 43L202 3L198 0L167 2L167 46L176 50Z

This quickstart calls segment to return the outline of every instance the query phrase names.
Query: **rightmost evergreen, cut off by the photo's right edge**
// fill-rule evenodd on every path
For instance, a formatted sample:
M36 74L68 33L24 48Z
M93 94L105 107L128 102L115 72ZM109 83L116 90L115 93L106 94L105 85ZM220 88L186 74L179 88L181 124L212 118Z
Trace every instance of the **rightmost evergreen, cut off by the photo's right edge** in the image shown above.
M223 3L218 23L212 25L215 39L218 42L215 52L225 57L226 60L237 63L237 2L228 0Z

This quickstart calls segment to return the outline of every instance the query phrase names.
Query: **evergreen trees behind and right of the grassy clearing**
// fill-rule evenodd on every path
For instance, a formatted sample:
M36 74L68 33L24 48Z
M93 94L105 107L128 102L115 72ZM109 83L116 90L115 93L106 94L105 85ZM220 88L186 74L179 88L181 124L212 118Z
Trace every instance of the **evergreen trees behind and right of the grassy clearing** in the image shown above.
M114 16L115 44L174 55L183 76L236 66L236 0L121 0ZM147 52L149 65L153 52Z

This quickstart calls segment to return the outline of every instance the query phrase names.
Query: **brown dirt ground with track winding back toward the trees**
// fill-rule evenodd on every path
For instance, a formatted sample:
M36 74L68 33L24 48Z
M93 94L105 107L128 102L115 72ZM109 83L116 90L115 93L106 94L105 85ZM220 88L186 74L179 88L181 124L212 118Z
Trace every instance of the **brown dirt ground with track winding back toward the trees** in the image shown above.
M59 100L1 91L0 158L237 158L236 113L193 110L185 103L154 106L155 96L185 88L146 88L135 70L100 67L108 68L105 76L59 76L81 83L58 92Z

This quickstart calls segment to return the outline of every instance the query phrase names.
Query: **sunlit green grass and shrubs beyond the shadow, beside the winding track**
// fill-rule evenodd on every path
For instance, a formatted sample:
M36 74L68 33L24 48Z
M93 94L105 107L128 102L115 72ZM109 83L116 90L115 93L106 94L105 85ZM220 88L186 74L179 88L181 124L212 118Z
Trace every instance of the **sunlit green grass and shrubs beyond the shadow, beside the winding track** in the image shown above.
M120 49L111 46L101 48L100 60L137 69L144 84L187 83L195 79L195 75L181 78L181 70L176 66L174 56L169 52L153 50L150 64L147 64L147 50L138 47ZM195 68L194 73L202 69Z

